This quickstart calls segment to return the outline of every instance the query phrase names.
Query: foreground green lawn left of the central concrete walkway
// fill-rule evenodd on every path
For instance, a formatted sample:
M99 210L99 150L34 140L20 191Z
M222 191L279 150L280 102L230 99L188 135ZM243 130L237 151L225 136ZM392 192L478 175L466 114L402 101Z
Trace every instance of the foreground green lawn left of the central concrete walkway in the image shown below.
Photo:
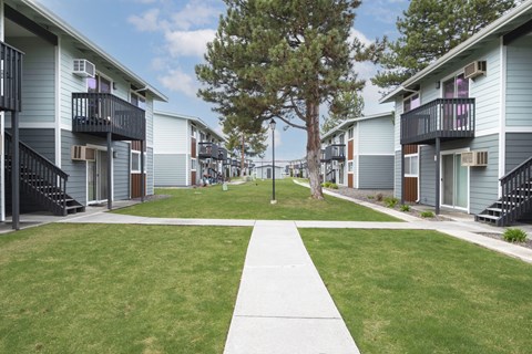
M222 353L249 228L50 225L0 238L0 353Z

